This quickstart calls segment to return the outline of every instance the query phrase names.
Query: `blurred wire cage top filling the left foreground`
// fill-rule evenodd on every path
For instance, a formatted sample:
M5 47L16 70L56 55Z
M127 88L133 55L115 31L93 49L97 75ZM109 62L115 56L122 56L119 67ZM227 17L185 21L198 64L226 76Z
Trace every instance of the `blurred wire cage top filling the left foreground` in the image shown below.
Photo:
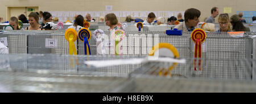
M89 60L131 56L0 55L1 92L114 92L141 64L96 68ZM134 56L135 57L135 56ZM142 56L136 56L142 57Z

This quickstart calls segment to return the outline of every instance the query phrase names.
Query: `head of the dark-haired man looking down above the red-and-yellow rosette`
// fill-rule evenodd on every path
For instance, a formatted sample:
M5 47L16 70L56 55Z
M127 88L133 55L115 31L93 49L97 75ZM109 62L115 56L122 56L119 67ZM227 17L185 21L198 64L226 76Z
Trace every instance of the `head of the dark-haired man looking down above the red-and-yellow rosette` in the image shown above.
M199 23L201 12L197 9L187 9L184 13L185 23L190 24L193 27L196 27Z

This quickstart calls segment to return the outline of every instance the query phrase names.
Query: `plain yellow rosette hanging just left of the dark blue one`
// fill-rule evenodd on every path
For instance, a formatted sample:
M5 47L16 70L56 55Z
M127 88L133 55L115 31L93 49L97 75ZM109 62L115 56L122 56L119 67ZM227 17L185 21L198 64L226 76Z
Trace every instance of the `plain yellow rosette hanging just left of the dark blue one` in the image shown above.
M69 44L69 55L77 55L76 47L74 42L77 39L77 32L73 28L69 28L65 31L65 39L68 41Z

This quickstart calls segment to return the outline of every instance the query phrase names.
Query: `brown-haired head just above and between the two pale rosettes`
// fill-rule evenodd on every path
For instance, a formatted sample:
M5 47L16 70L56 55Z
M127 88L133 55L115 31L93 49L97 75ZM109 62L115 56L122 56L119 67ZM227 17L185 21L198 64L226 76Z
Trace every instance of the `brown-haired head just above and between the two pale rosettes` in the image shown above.
M117 25L118 23L117 16L115 16L115 14L113 13L107 14L105 16L105 23L106 23L106 26Z

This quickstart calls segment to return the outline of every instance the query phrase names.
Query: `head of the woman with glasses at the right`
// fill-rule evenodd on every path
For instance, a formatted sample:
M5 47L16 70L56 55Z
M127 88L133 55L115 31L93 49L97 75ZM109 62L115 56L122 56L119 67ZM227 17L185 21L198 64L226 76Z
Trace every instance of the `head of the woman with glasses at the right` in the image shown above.
M218 16L218 24L220 24L221 31L231 31L229 21L230 20L228 14L220 14L220 16Z

